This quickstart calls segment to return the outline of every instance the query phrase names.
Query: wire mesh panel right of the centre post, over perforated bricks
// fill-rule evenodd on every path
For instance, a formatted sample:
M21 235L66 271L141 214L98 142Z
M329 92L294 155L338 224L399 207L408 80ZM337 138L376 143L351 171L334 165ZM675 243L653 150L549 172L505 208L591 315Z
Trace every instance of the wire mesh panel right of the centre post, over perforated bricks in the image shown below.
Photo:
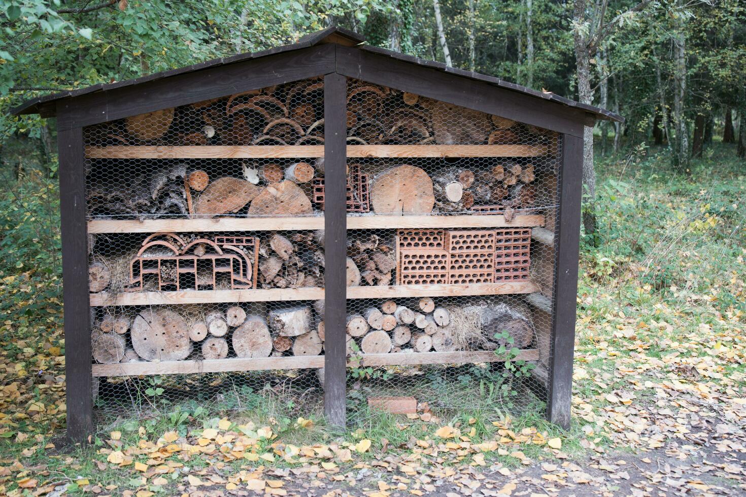
M348 285L380 289L348 289L352 408L542 409L560 137L359 80L347 104L352 215L445 221L348 230Z

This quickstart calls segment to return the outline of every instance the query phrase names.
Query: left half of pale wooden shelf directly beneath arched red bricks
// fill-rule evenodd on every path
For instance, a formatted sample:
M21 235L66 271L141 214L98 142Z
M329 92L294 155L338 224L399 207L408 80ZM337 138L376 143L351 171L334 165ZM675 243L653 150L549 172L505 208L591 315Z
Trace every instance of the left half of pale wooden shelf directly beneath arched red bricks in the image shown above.
M90 294L91 307L319 300L324 288L257 288L255 290L124 291Z

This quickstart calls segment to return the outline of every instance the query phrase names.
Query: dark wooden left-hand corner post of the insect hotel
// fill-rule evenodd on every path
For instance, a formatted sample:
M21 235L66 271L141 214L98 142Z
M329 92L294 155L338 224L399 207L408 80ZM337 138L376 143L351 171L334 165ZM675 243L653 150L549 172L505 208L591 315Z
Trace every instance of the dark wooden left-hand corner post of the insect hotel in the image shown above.
M58 113L63 115L60 110ZM60 153L67 437L72 442L84 442L93 434L93 376L83 130L80 127L60 130L57 146Z

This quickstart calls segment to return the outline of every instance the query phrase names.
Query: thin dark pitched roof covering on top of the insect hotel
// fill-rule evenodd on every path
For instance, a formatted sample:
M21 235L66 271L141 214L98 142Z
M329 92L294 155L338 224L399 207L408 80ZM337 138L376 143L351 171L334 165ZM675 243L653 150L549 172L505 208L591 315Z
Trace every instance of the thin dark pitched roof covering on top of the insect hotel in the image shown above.
M571 100L569 98L556 95L553 92L539 92L535 89L530 89L525 86L521 86L515 83L501 80L498 77L482 75L477 72L465 71L463 69L457 69L454 67L448 67L444 63L435 62L433 60L424 60L419 57L413 57L411 55L401 54L396 51L386 50L385 48L378 48L371 45L363 45L364 38L360 34L354 31L349 31L344 28L338 28L332 26L322 31L316 31L316 33L307 34L306 36L298 39L298 42L292 43L291 45L282 45L275 48L269 48L268 50L249 52L245 54L233 55L231 57L222 57L219 59L207 60L203 63L194 64L192 66L186 66L179 69L171 69L164 72L156 72L151 75L137 77L131 80L118 81L116 83L98 83L93 86L87 86L86 88L69 90L66 92L53 93L51 95L43 95L36 98L31 98L25 101L18 107L14 107L10 110L12 115L22 114L40 114L42 117L54 117L56 115L57 101L66 98L75 98L81 95L87 95L94 92L116 92L117 89L125 86L134 86L141 83L147 83L153 80L160 80L163 78L173 77L176 75L183 75L189 72L198 72L205 69L212 69L219 66L226 66L229 64L239 63L245 60L257 59L260 57L268 57L275 54L280 54L288 51L301 50L302 48L309 48L315 45L321 45L325 43L331 43L335 45L341 45L343 47L355 47L362 51L366 51L372 54L377 54L382 57L391 57L395 60L401 60L405 63L414 64L416 66L423 66L431 69L436 69L452 75L460 77L466 77L470 80L477 80L483 83L489 83L493 86L498 86L503 89L508 89L513 92L518 92L524 95L529 95L533 98L539 98L544 101L551 101L556 104L560 104L565 107L572 107L577 110L583 110L585 113L589 113L597 119L606 119L609 121L624 121L621 115L610 112L609 110L601 109L601 107L594 107L588 104L581 104L580 102Z

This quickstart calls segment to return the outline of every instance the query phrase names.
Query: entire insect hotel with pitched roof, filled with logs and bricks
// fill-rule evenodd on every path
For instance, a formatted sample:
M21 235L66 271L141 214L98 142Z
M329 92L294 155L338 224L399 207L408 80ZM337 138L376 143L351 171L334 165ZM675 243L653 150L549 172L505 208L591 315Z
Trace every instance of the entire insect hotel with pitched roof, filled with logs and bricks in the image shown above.
M618 115L340 28L13 113L57 118L72 439L267 395L568 425L583 128Z

